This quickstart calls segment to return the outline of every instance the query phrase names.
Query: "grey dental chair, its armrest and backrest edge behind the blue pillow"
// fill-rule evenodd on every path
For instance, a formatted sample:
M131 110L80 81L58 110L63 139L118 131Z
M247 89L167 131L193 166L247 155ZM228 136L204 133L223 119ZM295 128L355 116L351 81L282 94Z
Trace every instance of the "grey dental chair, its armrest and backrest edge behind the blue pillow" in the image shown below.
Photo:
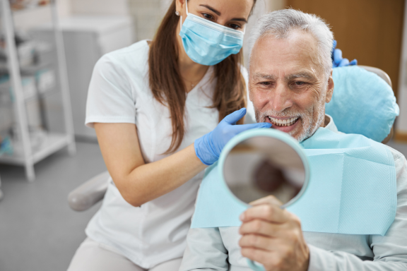
M365 70L372 73L376 73L377 76L382 78L387 84L391 86L390 77L379 68L374 68L370 66L360 66L360 68L365 68ZM386 144L389 142L393 136L393 128L387 138L384 138L382 143ZM92 179L86 181L81 186L78 186L75 190L71 191L68 195L68 203L71 209L81 212L88 210L90 207L98 203L105 196L108 180L110 178L109 172L105 171L97 176L94 176ZM0 191L1 199L1 191Z

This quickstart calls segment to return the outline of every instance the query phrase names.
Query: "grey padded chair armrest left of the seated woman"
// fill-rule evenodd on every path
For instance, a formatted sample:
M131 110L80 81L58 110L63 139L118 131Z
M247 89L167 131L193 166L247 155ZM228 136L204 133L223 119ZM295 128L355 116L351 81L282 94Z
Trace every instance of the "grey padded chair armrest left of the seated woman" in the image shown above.
M86 181L69 193L69 207L75 211L81 212L88 210L102 200L107 190L109 176L109 172L105 171L89 181Z

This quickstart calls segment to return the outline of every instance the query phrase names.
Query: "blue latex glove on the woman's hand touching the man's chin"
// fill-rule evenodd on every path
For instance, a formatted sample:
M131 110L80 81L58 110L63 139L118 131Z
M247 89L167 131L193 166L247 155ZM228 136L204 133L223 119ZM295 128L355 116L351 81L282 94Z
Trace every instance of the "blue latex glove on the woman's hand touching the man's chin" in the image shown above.
M253 129L253 128L270 128L271 124L267 122L261 122L259 124L242 124L236 125L236 122L242 119L246 114L246 109L242 108L225 116L216 126L213 131L207 133L195 140L194 147L196 156L206 164L210 166L214 162L218 161L220 152L225 147L230 138L234 137L238 133Z

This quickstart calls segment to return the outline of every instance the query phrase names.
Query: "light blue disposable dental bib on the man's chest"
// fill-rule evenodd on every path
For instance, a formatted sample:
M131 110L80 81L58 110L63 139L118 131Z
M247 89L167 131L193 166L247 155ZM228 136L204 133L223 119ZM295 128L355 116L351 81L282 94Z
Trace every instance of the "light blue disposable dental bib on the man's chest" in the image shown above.
M326 128L301 145L309 159L309 186L287 210L300 217L302 230L386 234L397 200L390 150L363 135ZM217 162L206 169L191 227L240 226L239 215L247 207L229 191Z

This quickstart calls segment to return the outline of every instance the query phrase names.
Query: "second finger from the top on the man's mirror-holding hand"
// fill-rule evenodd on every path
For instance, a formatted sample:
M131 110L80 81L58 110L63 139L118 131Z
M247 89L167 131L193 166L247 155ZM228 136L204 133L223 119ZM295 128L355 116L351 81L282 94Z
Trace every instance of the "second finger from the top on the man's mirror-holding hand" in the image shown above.
M278 237L282 235L285 224L276 224L266 222L260 219L254 219L249 222L244 222L239 228L239 234L261 234L263 236Z

